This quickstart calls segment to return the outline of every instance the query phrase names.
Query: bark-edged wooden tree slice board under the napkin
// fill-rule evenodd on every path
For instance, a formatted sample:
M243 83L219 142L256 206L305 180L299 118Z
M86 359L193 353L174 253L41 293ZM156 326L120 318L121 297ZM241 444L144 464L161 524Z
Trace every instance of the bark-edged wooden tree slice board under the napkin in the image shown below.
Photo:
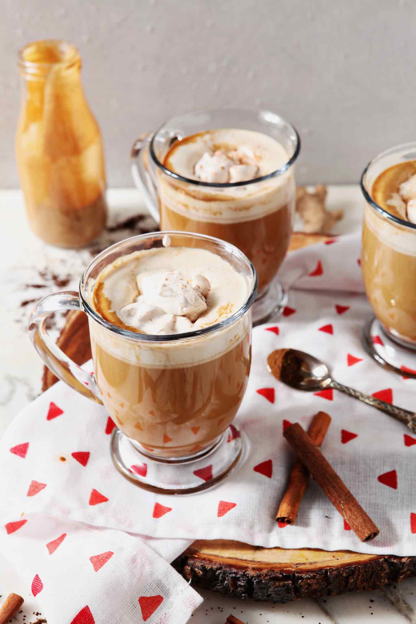
M293 235L291 249L329 240L324 235ZM84 364L91 358L87 316L68 314L57 340L60 348ZM57 378L45 367L42 390ZM309 548L262 548L226 540L197 540L173 562L192 585L232 598L290 602L374 590L416 576L416 557L327 552Z

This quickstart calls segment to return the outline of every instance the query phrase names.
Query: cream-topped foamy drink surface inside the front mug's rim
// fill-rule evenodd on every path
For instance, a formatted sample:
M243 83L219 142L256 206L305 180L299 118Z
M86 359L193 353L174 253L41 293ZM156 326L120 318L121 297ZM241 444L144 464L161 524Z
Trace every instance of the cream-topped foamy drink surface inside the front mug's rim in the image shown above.
M248 296L246 278L211 251L160 247L117 258L94 286L95 310L143 333L202 329L235 313Z

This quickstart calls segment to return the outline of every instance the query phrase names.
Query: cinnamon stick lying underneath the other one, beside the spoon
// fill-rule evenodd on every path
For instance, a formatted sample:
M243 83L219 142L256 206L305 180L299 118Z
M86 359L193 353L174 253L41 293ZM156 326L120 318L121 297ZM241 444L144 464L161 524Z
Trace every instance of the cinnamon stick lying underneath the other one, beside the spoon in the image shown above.
M329 425L331 424L331 416L326 412L318 412L312 419L307 435L316 446L321 446ZM299 505L302 502L303 495L309 481L309 470L297 459L294 462L288 487L284 492L283 499L279 505L277 522L285 522L293 524L296 520Z

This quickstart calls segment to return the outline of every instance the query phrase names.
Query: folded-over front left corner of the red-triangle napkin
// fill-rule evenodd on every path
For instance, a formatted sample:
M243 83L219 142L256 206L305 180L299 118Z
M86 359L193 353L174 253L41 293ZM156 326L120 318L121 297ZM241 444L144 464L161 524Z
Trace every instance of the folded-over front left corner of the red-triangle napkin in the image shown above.
M2 553L51 624L182 624L202 602L168 563L186 548L185 540L31 513L5 529Z

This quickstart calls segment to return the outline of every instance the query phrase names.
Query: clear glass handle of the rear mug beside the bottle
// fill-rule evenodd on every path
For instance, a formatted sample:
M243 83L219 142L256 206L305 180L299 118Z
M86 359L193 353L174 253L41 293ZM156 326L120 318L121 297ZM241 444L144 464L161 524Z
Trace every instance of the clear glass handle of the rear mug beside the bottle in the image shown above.
M157 200L157 185L148 166L149 145L153 138L153 132L147 132L138 137L133 143L130 157L132 158L132 176L136 187L142 192L145 205L155 222L160 224L160 215Z

